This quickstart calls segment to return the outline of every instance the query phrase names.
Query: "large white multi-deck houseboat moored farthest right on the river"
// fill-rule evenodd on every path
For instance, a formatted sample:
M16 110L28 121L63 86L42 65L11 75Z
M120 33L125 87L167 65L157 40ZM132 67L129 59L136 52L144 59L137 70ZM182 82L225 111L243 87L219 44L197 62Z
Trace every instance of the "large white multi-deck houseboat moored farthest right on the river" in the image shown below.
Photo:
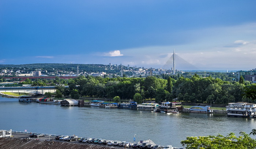
M256 104L247 102L229 103L227 108L227 116L234 117L256 117Z

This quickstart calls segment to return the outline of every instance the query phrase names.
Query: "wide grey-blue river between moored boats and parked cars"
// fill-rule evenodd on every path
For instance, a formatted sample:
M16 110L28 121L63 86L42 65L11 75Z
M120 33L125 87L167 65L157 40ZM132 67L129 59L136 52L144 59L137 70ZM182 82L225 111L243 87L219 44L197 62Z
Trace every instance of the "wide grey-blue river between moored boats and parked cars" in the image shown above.
M23 103L0 97L0 129L48 134L77 135L136 142L152 140L159 145L181 147L187 136L237 136L256 129L256 119L227 117L225 113L154 113L99 107ZM255 138L254 136L251 136Z

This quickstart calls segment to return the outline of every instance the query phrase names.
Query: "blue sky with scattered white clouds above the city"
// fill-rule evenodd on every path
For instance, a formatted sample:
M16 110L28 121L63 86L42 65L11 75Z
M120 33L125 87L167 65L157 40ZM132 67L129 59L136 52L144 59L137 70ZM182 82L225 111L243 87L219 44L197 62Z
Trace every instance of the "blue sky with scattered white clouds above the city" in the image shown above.
M1 0L0 64L256 68L255 0Z

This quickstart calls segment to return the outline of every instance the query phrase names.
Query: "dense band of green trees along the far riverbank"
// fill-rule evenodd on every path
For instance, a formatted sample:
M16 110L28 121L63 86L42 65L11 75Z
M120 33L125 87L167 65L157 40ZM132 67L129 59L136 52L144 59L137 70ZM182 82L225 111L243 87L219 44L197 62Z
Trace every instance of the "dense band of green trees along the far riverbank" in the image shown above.
M172 77L167 79L148 76L146 78L102 78L92 76L79 76L69 79L68 88L57 86L64 96L71 95L75 90L79 96L133 99L134 95L141 96L140 100L185 101L192 103L227 104L229 102L255 102L246 91L254 88L248 81L223 81L219 78L199 77L196 73L191 78ZM247 89L247 90L246 90ZM74 91L73 91L74 92ZM252 93L255 91L252 90Z

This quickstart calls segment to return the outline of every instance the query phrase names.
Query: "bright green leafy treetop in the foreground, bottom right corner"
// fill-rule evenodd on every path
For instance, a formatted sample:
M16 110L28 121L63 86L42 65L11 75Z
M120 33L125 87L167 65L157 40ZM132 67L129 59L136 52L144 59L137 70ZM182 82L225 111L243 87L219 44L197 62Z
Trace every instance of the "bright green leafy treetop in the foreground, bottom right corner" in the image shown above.
M226 137L218 134L217 136L207 137L187 137L187 140L181 141L186 149L253 149L256 148L256 140L249 134L240 132L236 137L234 133L229 133Z

